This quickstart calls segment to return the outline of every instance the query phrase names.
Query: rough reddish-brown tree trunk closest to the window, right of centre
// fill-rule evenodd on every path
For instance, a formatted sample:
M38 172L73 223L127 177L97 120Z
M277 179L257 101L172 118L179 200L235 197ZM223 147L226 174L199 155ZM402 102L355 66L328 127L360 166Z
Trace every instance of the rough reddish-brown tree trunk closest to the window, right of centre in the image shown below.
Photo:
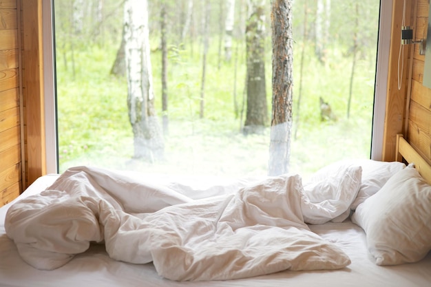
M293 104L292 0L273 0L273 109L269 176L288 173ZM280 61L284 59L284 61Z

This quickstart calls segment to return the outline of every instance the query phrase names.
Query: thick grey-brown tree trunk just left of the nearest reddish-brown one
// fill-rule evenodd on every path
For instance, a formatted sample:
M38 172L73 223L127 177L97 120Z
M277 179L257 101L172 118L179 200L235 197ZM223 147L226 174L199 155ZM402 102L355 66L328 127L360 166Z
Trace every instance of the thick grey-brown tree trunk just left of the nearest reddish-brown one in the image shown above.
M263 131L268 120L265 88L265 0L249 0L246 23L247 107L244 134Z

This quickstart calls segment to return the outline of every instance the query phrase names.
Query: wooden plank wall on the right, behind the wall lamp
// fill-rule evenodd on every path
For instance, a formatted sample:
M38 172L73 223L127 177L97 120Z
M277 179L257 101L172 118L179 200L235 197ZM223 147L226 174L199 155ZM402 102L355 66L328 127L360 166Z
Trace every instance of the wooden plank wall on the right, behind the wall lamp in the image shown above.
M417 0L415 5L416 27L413 32L415 40L419 41L427 38L430 0ZM427 56L431 61L431 55ZM431 162L431 89L422 85L424 63L425 56L419 54L419 45L414 45L404 134L410 145Z

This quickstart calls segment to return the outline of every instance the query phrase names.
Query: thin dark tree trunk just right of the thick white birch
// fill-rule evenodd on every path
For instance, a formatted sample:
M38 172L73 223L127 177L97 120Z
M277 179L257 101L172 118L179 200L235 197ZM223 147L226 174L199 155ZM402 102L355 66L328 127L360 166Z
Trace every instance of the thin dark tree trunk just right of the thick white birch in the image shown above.
M167 43L166 43L166 3L162 3L160 10L160 30L162 45L162 120L163 134L169 134L169 118L167 116Z

